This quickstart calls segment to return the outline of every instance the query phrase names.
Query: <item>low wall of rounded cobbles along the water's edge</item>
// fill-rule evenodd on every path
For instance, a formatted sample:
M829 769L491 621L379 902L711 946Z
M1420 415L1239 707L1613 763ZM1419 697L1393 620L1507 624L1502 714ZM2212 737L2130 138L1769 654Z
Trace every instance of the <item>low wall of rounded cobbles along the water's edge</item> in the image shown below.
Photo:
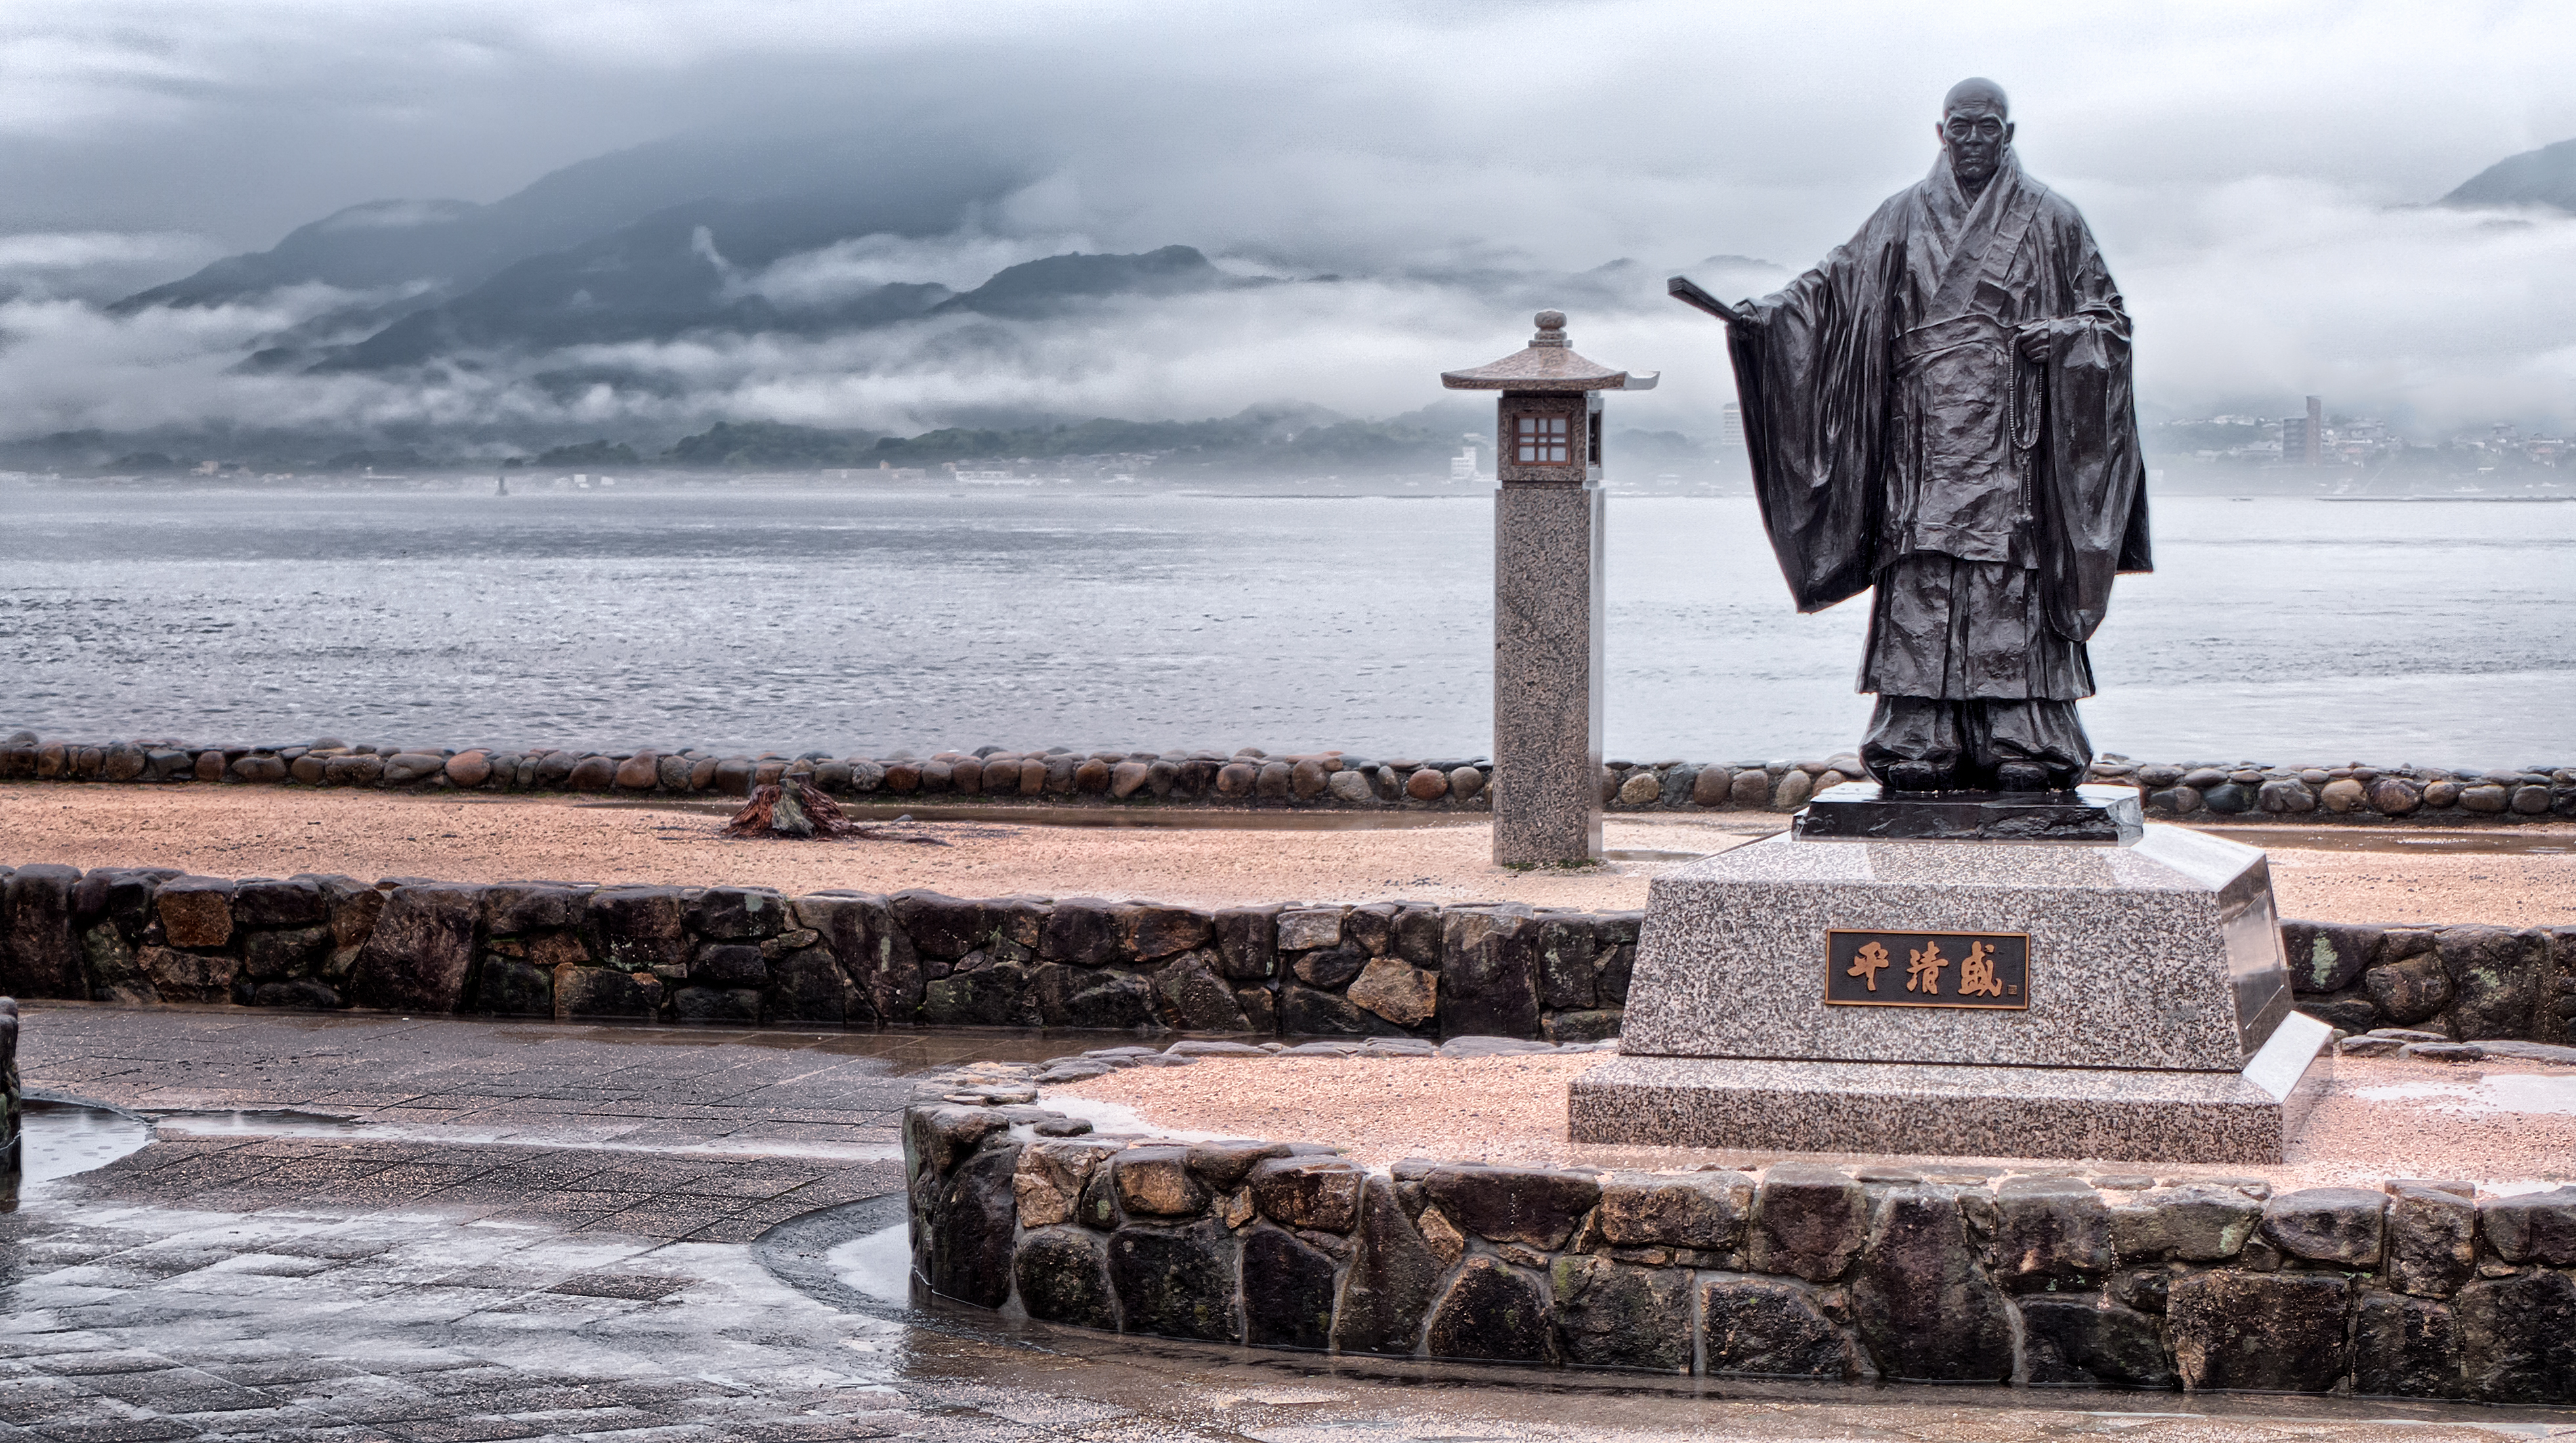
M433 750L322 740L296 747L193 742L0 745L0 781L232 781L461 791L590 791L744 796L762 781L811 776L835 796L953 796L958 801L1242 804L1463 809L1492 807L1486 758L1373 760L1347 752L938 752L922 758ZM1808 763L1628 763L1602 768L1613 812L1795 812L1816 791L1860 778L1860 758ZM2133 763L2102 758L2099 783L2136 786L2156 817L2280 822L2535 822L2576 819L2576 768L2290 768L2269 763Z

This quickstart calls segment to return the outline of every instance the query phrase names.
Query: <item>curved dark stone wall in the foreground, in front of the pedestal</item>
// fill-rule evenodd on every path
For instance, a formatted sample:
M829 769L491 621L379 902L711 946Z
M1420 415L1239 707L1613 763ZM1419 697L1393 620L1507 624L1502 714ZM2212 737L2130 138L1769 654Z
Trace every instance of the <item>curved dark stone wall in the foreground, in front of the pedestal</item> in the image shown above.
M981 1064L904 1113L914 1268L945 1299L1396 1358L2576 1402L2576 1188L1370 1170L1087 1136L1033 1075Z

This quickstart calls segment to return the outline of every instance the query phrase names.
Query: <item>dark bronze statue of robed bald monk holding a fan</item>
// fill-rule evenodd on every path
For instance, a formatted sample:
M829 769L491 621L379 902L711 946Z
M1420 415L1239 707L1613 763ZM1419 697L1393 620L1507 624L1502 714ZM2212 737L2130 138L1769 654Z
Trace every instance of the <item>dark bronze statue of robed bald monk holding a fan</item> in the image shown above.
M1942 100L1932 175L1726 348L1798 611L1875 588L1860 760L1888 791L2084 778L2084 642L2148 569L2128 312L2066 198L2012 155L2004 90Z

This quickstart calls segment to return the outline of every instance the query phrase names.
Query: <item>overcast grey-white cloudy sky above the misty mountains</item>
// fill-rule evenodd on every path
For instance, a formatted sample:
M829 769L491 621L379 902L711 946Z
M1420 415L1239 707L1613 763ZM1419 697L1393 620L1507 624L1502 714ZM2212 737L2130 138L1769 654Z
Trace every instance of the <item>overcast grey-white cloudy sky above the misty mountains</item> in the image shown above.
M1932 162L1940 93L1991 75L2022 162L2084 209L2130 296L2151 405L2324 389L2439 423L2576 423L2576 219L2398 209L2576 137L2566 5L2089 10L10 0L0 278L113 294L355 201L492 201L685 129L871 116L933 116L1025 157L1046 180L1012 224L1092 247L1376 271L1806 265ZM1723 361L1692 325L1649 307L1577 343L1705 381ZM0 317L0 384L116 345L160 358L80 381L103 397L185 350L103 327ZM1090 399L1298 394L1298 335L1211 340L1224 384ZM1494 350L1417 340L1391 363ZM1193 350L1172 345L1182 366Z

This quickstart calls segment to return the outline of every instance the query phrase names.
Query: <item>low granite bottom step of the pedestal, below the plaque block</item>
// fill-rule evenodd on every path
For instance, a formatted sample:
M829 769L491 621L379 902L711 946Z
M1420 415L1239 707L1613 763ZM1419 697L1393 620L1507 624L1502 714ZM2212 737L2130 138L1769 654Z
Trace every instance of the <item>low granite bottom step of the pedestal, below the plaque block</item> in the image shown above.
M2331 1077L2290 1015L2244 1072L1620 1056L1574 1080L1574 1142L1754 1152L2280 1162Z

